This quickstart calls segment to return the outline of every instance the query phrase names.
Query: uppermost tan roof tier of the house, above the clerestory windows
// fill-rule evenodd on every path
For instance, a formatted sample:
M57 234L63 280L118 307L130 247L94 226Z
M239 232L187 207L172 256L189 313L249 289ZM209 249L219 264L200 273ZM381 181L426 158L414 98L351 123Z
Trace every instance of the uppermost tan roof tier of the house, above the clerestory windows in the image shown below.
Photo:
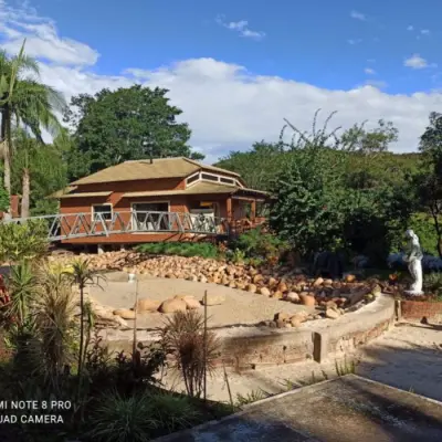
M238 173L231 172L230 170L201 165L189 158L177 157L154 159L152 164L150 164L149 159L125 161L99 170L88 177L81 178L72 182L72 185L93 185L98 182L135 181L158 178L186 178L198 170L220 172L240 178Z

